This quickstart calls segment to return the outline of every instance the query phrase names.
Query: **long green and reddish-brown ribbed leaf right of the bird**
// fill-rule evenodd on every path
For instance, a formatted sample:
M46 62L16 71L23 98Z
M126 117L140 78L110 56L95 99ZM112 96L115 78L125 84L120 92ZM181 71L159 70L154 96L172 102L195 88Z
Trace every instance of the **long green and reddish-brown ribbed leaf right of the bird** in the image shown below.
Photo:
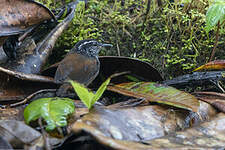
M154 82L122 83L109 86L108 90L194 112L199 108L199 101L193 95Z

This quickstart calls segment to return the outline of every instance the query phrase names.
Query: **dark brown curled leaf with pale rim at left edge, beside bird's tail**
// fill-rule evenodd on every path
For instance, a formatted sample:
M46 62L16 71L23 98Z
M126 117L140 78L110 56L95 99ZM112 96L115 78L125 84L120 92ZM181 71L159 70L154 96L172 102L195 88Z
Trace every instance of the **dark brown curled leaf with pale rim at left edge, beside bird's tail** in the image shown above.
M40 89L56 87L54 79L50 77L25 74L0 67L0 101L13 102Z

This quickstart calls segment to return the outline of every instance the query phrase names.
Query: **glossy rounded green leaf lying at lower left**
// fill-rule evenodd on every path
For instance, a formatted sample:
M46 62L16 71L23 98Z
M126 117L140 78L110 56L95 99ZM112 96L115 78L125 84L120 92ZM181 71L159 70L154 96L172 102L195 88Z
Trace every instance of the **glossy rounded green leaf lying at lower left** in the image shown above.
M41 98L31 102L24 110L24 119L27 124L30 121L42 117L46 123L46 130L54 130L56 127L67 125L67 115L75 110L73 100L69 98Z

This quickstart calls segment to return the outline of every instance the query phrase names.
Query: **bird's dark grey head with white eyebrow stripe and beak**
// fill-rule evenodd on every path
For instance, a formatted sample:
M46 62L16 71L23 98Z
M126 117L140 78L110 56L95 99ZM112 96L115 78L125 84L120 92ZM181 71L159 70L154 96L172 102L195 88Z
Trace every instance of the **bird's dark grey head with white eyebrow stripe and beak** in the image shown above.
M81 40L76 43L71 53L78 52L88 56L98 56L102 47L112 47L111 44L100 43L95 39Z

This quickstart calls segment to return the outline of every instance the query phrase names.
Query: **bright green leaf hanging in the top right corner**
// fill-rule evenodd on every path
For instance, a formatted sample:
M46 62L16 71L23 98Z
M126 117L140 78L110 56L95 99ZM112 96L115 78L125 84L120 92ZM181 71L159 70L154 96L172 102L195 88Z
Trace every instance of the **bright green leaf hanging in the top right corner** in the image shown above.
M225 20L225 2L215 1L207 10L205 30L209 32L217 23Z

